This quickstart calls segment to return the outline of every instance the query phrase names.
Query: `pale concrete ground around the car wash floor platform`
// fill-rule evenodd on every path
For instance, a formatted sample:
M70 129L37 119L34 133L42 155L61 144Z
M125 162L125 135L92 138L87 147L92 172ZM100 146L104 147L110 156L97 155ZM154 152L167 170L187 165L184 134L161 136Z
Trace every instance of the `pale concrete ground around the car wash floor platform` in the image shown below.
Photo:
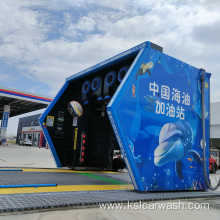
M31 167L31 168L55 168L55 162L49 149L27 147L9 144L0 146L0 167ZM216 175L210 175L213 185L220 178L220 171ZM220 191L220 189L218 189ZM177 200L162 201L175 203ZM220 218L220 199L187 199L181 200L185 205L189 203L209 203L209 210L102 210L99 205L90 207L68 207L54 210L35 210L28 212L2 213L0 219L193 219L193 220L217 220ZM149 203L149 202L148 202Z

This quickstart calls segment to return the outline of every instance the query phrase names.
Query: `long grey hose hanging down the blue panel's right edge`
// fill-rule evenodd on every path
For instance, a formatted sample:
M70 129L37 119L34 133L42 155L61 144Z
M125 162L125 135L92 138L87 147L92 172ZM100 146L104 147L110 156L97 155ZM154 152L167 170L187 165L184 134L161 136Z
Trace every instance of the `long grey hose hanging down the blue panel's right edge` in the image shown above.
M201 78L201 86L202 86L202 146L203 146L203 173L204 173L204 178L205 178L205 183L208 186L209 189L211 190L216 190L220 186L220 179L215 187L211 186L209 181L208 181L208 176L207 176L207 170L206 170L206 163L205 163L205 70L201 69L202 71L202 78Z

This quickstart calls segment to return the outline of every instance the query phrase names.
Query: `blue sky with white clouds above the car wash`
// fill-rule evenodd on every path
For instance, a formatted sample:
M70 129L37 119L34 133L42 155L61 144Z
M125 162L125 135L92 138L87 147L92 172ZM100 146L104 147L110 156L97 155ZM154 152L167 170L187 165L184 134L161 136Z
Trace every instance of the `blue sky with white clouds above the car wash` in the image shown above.
M213 73L220 101L219 10L218 0L1 0L0 86L53 97L68 76L148 40Z

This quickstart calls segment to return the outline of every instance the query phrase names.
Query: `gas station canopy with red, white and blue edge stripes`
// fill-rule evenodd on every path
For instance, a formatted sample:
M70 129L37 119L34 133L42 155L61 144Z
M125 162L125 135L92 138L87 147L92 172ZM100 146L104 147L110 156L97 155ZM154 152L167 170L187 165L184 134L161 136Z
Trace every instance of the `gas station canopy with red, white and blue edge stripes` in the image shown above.
M0 87L0 119L4 106L10 106L10 117L46 108L51 97Z

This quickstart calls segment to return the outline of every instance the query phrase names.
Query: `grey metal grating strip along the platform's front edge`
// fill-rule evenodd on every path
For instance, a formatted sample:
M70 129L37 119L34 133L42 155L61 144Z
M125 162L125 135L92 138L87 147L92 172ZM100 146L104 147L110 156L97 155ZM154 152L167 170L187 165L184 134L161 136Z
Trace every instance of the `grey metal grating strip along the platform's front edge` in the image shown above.
M172 199L220 197L220 192L159 192L140 193L132 190L19 194L0 196L0 212L16 212L42 208L97 205L99 203L157 201Z

